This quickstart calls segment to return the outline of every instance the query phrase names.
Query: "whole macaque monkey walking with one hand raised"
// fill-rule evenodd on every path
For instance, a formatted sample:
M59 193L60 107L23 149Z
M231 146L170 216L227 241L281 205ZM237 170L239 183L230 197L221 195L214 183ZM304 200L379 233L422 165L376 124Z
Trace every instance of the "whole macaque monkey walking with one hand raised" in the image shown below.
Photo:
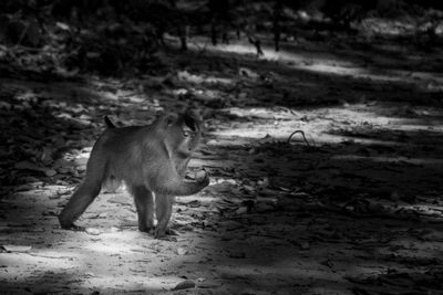
M82 230L74 221L86 210L102 186L124 181L134 196L138 229L164 238L175 196L189 196L209 185L209 177L184 179L192 152L200 138L200 123L190 113L161 116L148 126L117 128L105 117L107 129L96 140L83 183L59 215L63 229ZM155 201L154 201L155 194ZM154 210L157 224L154 229Z

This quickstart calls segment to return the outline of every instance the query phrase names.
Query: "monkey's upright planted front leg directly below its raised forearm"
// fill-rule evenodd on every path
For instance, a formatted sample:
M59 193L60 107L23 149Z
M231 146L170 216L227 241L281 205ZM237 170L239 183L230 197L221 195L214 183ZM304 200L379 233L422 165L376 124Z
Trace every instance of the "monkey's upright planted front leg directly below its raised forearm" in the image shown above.
M155 193L155 214L157 215L157 226L155 228L155 239L161 239L168 232L168 223L173 212L174 196Z

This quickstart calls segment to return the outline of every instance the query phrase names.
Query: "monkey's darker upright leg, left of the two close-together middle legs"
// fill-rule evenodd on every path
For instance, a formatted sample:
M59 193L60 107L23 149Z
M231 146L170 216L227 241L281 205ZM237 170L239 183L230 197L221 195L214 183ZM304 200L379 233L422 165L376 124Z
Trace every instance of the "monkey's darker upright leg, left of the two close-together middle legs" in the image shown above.
M154 229L154 197L144 186L131 187L138 215L138 230L150 232Z

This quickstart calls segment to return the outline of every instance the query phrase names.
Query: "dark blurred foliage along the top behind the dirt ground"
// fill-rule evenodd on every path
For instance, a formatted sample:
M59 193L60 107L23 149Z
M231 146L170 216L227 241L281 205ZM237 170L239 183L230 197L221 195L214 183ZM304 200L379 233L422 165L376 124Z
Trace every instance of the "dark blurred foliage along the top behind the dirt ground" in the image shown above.
M413 18L416 33L439 43L441 8L432 0L3 0L0 61L17 61L25 50L43 53L37 62L47 70L161 70L156 53L171 49L165 39L186 50L193 35L216 45L244 34L260 55L259 34L272 34L278 51L297 28L358 33L368 18Z

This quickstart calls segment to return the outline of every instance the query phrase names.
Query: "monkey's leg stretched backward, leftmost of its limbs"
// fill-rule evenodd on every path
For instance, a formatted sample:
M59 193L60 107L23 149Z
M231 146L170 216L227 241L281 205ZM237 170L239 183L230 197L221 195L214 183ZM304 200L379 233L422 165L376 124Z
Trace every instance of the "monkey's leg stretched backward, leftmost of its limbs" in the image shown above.
M80 230L74 221L86 210L95 197L100 193L101 183L85 180L72 194L68 204L59 215L60 224L63 229Z

